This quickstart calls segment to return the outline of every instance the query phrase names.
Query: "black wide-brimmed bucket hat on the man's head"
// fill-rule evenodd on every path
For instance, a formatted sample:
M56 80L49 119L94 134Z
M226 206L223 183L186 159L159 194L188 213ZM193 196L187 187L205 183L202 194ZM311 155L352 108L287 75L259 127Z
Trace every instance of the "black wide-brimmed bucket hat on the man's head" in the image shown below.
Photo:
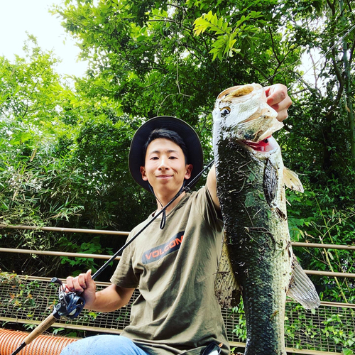
M178 133L187 147L187 163L193 166L190 180L195 178L203 168L203 153L200 138L190 124L187 124L185 121L172 116L158 116L146 121L146 123L137 129L133 136L129 150L129 171L133 179L146 190L151 191L148 181L142 179L140 168L144 166L146 158L143 153L143 146L146 144L148 136L155 129L168 129Z

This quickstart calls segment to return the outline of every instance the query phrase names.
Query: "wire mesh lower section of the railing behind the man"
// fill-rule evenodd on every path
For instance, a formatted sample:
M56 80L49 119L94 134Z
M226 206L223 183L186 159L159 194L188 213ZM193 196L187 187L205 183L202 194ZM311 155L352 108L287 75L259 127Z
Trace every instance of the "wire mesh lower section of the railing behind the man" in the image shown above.
M0 279L1 281L1 279ZM97 283L97 289L107 287L109 283ZM31 295L31 297L29 297ZM74 320L61 318L53 324L53 327L73 329L74 331L92 331L98 333L121 334L124 327L129 325L131 304L138 297L139 291L135 290L129 305L109 313L92 312L83 310ZM38 325L53 311L58 297L58 286L50 283L50 278L35 278L16 276L11 280L0 282L0 322L16 322L22 324ZM352 309L351 309L351 307ZM332 302L322 305L315 311L304 310L294 302L287 302L285 315L285 345L289 354L342 354L342 346L334 342L334 339L322 337L320 329L322 322L337 315L342 317L343 332L352 332L355 329L355 305ZM297 310L297 311L295 311ZM243 336L237 334L235 329L241 327L244 315L222 309L222 316L226 326L226 333L232 347L243 348L245 346ZM301 320L300 320L301 318ZM302 325L300 326L300 322ZM306 329L307 324L307 329ZM309 324L317 329L318 334L308 335ZM243 327L243 326L242 326ZM295 329L292 333L288 329Z

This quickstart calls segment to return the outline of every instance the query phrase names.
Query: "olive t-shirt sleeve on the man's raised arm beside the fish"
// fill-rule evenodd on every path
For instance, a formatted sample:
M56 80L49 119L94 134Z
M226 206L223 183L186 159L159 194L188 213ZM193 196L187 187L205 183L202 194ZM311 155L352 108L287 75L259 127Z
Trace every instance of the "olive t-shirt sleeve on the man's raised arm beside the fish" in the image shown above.
M211 194L207 189L207 186L202 187L196 197L197 209L200 211L202 218L217 231L222 231L223 220L220 211L217 211L214 206Z

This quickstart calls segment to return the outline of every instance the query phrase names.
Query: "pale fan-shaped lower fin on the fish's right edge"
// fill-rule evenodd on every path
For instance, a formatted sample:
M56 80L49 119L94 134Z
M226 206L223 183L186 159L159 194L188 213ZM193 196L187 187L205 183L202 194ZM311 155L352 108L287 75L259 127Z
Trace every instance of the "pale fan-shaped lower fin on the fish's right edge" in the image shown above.
M293 273L288 287L288 296L300 302L307 310L313 310L320 306L320 297L315 290L315 285L313 285L295 257L293 259Z

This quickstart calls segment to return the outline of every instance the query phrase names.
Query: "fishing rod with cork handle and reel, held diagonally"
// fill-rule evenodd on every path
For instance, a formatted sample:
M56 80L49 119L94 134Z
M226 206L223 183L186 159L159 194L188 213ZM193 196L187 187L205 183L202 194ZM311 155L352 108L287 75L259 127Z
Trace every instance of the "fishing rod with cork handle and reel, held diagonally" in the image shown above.
M116 253L114 253L111 258L109 258L104 265L99 268L99 270L92 275L92 280L97 278L97 276L104 271L107 266L109 266L109 263L111 261L114 261L114 259L119 256L120 253L124 251L124 249L127 248L136 238L139 236L155 219L157 219L160 214L165 212L165 209L167 209L170 204L172 204L181 194L182 192L185 191L190 191L190 187L197 182L198 179L200 179L201 175L214 163L214 160L210 161L201 171L198 173L195 178L193 178L187 185L183 185L179 192L173 197L172 200L170 200L165 206L160 209L160 211L154 215L154 217L146 224L143 226L143 228L138 231L129 241L124 244L124 246L121 247ZM84 297L80 296L81 293L77 292L65 292L65 286L63 285L62 281L59 280L58 278L52 278L50 280L51 283L58 283L59 285L59 290L58 290L58 299L59 302L57 305L55 305L53 312L43 320L40 324L38 324L38 327L35 327L33 331L28 334L28 336L23 339L23 342L18 348L11 353L11 355L16 355L18 354L26 345L30 344L38 335L42 334L47 330L55 321L60 320L60 317L67 317L71 320L76 318L78 315L80 315L80 312L82 312L82 309L84 308L85 305L85 300Z

